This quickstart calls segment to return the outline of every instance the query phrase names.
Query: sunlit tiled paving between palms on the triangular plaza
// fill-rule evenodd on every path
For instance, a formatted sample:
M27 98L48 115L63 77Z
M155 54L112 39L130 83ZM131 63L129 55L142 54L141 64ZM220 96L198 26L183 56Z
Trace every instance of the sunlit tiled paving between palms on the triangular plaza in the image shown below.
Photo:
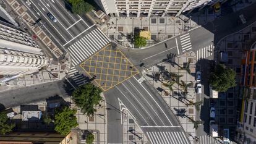
M192 62L190 63L190 70L192 73L194 73L195 72L195 59L196 59L195 54L193 54L193 53L182 54L181 56L175 58L175 62L177 64L179 64L179 66L182 67L184 62L187 62L188 59L192 59ZM160 69L166 69L169 72L183 75L180 80L184 80L184 82L186 82L186 83L190 83L192 81L195 85L194 76L187 74L187 72L185 70L181 70L178 66L174 66L174 67L171 66L171 64L169 64L168 62L163 62L161 64L158 64L158 66L151 67L147 74L152 75L154 72L159 72ZM186 100L182 100L182 101L184 101L184 103L179 101L180 97L181 97L181 95L179 95L179 93L181 93L181 88L176 83L173 85L174 91L171 92L168 87L164 87L162 85L162 83L159 82L158 80L155 81L151 77L148 77L147 75L146 75L146 78L153 85L153 87L155 87L158 90L158 93L160 93L160 95L163 96L163 99L171 107L174 114L177 114L177 111L184 109L186 111L186 113L185 113L186 116L188 116L192 119L195 118L196 110L195 110L194 106L192 106L192 105L186 106L186 104L185 104L185 103L187 103ZM193 102L195 102L195 98L196 98L194 85L192 87L188 88L188 95L187 95L187 100L193 101ZM168 91L171 96L164 95L163 90ZM182 118L182 117L178 117L178 119L181 122L181 125L186 133L191 133L191 134L195 133L195 129L193 129L194 124L189 119ZM193 141L193 139L191 139L191 137L189 137L189 138L190 138L190 141ZM207 144L207 143L205 143L205 144Z

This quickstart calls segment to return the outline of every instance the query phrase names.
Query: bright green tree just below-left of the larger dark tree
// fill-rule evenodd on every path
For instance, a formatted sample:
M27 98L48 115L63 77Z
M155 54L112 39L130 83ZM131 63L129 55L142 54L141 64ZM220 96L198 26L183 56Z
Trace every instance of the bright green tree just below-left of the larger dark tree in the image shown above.
M54 129L61 135L67 135L73 127L76 127L77 117L74 116L77 111L75 109L69 109L65 106L61 109L55 109L54 115Z

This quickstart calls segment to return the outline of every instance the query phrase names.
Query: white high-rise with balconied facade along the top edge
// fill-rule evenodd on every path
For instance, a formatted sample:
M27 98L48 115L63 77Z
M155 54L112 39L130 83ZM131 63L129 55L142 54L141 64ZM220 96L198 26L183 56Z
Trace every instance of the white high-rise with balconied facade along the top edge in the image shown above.
M114 17L179 15L225 1L227 0L95 0L106 14Z

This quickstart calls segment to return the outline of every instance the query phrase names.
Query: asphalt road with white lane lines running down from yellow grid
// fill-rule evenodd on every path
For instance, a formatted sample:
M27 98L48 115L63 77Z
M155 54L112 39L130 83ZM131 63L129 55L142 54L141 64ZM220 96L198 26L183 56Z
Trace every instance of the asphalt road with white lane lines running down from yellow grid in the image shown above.
M179 135L170 136L171 139L184 140L181 143L190 143L168 104L156 92L155 88L151 87L150 83L147 81L138 82L139 78L139 75L136 75L105 92L108 103L113 103L113 101L115 104L119 103L119 106L115 106L118 110L113 111L111 116L108 114L108 124L111 124L109 126L113 126L113 121L119 125L114 125L114 127L108 128L108 130L122 129L121 121L123 117L120 110L127 109L151 143L158 143L160 139L168 140L169 136L167 136L166 132L180 133ZM114 117L119 117L118 121ZM121 133L112 132L113 130L108 135L108 143L122 143L122 139L116 138L117 135L122 137ZM161 137L161 135L165 134L166 137ZM161 138L159 139L158 137Z

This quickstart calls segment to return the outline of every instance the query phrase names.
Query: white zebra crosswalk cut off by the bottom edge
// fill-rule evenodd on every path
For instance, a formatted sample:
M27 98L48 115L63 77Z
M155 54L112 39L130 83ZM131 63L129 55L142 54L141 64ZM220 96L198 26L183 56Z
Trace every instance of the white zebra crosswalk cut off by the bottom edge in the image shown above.
M152 144L189 144L184 132L146 132Z

